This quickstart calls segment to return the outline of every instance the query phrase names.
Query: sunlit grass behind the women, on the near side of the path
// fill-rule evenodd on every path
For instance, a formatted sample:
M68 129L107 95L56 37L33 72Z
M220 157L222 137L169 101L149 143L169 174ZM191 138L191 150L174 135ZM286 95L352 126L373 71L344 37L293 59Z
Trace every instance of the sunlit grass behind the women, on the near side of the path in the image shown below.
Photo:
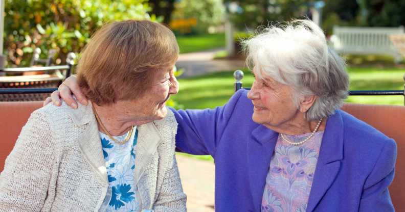
M244 87L251 87L253 75L244 69ZM405 69L349 68L350 90L402 90ZM180 91L172 99L185 109L215 108L226 103L233 92L233 71L210 73L179 79ZM347 102L403 105L402 96L350 96ZM184 153L181 153L184 154ZM201 160L212 160L207 155L192 155Z

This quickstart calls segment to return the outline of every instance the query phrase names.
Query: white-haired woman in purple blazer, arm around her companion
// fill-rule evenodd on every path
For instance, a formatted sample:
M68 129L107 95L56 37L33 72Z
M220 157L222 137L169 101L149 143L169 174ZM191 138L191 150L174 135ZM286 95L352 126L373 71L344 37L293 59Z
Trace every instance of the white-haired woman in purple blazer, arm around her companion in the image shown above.
M340 110L349 78L322 30L297 20L244 45L250 91L213 110L173 110L177 150L215 160L215 210L393 211L396 144Z

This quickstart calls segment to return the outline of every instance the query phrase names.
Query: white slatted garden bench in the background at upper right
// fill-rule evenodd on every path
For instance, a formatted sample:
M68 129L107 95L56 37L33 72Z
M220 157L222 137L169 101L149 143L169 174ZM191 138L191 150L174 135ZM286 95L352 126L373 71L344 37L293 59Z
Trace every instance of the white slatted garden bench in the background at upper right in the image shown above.
M395 62L402 60L389 36L405 34L398 28L333 26L332 47L341 54L391 55Z

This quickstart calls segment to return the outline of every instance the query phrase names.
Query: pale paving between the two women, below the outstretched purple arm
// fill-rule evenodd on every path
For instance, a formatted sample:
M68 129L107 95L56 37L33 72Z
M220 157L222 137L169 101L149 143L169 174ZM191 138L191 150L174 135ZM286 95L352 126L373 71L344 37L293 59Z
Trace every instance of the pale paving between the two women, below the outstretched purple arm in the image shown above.
M176 159L187 194L187 211L214 212L214 163L184 155L176 155Z

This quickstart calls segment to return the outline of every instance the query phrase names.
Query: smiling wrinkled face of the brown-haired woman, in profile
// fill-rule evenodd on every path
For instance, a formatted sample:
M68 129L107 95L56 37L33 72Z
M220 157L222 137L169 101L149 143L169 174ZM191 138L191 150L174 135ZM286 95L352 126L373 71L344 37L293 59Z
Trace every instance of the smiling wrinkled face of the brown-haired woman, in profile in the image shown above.
M124 113L138 121L151 122L167 115L166 101L171 94L178 92L178 83L173 74L173 66L156 76L155 83L145 94L124 103Z

